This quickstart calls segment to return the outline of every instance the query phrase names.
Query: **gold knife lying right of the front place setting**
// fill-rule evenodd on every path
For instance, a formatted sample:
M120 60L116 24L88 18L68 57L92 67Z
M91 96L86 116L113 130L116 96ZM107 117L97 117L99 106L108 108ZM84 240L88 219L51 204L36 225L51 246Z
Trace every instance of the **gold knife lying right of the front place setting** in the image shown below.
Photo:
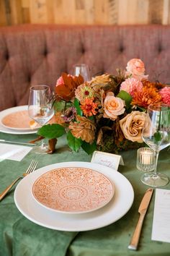
M140 202L140 206L138 209L138 213L140 213L140 217L139 217L138 223L136 225L135 231L133 233L133 237L128 246L128 249L136 250L138 248L140 231L143 226L143 220L146 216L146 211L148 209L149 202L151 201L152 194L153 194L153 189L147 189L145 195L143 196L142 201Z

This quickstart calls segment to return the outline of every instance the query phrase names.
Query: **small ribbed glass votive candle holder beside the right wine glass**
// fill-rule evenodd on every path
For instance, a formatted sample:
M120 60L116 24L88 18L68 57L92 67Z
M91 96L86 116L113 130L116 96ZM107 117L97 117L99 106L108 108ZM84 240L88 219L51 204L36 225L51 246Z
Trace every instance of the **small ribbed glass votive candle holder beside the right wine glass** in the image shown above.
M143 171L143 175L140 177L141 182L144 183L147 179L150 179L150 172L155 167L154 151L151 148L139 148L137 150L136 167L139 171Z

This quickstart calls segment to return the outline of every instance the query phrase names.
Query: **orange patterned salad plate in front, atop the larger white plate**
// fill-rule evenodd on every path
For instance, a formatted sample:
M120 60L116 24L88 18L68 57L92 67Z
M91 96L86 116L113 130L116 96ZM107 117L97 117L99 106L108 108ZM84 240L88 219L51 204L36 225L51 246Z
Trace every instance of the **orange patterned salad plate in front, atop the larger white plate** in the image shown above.
M114 191L106 176L83 167L56 168L42 174L32 186L37 202L62 213L87 213L102 208Z

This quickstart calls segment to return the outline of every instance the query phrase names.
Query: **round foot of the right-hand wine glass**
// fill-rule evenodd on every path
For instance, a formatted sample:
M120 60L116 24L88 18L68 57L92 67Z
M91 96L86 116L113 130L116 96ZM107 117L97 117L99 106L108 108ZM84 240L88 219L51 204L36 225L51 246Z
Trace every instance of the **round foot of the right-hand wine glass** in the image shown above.
M150 187L163 187L169 183L169 177L165 174L146 173L141 176L140 180Z

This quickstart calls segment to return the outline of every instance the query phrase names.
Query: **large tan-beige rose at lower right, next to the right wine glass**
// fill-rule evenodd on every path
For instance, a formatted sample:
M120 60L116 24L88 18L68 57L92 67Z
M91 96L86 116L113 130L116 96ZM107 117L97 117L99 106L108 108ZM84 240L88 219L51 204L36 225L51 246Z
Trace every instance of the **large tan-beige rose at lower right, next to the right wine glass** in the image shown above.
M143 142L141 133L146 121L146 113L133 111L120 120L120 127L126 139Z

